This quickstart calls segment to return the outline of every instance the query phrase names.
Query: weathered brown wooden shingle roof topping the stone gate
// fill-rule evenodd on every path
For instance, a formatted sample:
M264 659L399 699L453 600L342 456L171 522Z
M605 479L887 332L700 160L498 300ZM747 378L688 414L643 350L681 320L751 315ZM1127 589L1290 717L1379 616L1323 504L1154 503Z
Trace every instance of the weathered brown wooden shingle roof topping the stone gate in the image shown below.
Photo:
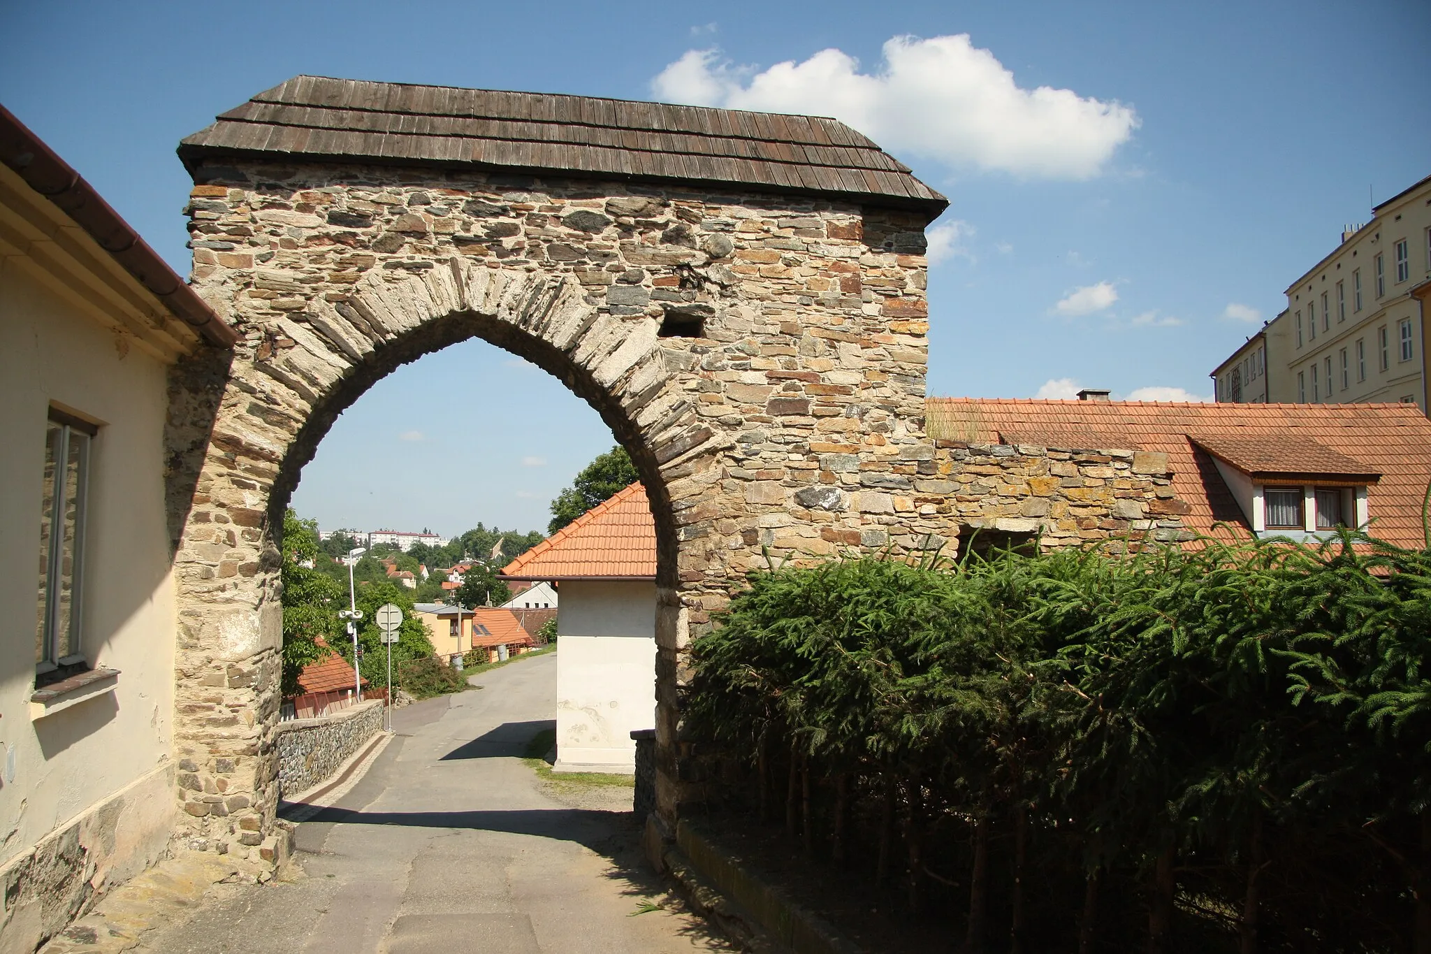
M179 146L190 172L222 154L680 180L840 196L930 219L949 205L833 119L322 76L265 90Z

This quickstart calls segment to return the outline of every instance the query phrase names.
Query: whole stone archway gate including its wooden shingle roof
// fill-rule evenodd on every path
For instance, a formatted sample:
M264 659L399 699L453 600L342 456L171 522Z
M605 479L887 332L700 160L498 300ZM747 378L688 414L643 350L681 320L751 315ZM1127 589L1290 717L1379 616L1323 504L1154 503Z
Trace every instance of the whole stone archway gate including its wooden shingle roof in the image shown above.
M527 358L640 469L667 820L680 649L763 548L916 546L947 519L912 489L933 458L923 229L947 202L834 120L296 77L179 154L195 290L240 336L172 382L192 837L272 824L282 511L338 413L424 353Z

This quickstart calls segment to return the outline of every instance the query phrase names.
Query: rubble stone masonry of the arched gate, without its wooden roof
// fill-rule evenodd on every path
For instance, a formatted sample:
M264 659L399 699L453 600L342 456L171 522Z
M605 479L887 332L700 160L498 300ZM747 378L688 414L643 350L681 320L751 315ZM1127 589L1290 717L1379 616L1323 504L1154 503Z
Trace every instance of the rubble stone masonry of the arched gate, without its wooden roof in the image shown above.
M190 832L242 842L272 822L276 521L336 415L424 353L477 336L534 362L640 469L660 549L667 818L680 651L761 546L813 558L917 536L893 508L933 451L920 217L444 169L253 163L200 167L196 182L195 289L242 340L216 406L176 399L172 422L176 483L193 485L176 519ZM179 396L212 379L200 370L175 376ZM943 528L947 515L920 516ZM249 805L216 815L202 795L220 780Z

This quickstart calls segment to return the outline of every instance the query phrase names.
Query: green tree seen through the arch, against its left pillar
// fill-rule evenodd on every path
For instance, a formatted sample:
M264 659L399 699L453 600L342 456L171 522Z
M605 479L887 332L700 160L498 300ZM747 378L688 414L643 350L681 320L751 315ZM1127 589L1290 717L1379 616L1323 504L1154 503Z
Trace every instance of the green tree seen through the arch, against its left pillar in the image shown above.
M318 549L318 523L299 519L292 509L283 512L283 677L285 697L302 689L298 677L303 667L323 658L318 636L332 636L339 629L338 611L343 606L343 588L315 566L331 564Z

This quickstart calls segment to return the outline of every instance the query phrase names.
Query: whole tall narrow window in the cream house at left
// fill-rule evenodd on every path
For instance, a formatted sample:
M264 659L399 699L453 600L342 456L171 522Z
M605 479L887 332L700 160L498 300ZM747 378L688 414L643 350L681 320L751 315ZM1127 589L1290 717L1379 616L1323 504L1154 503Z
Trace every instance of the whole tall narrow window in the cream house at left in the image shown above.
M84 498L94 425L52 409L44 429L40 512L40 592L34 662L39 674L84 661L80 645Z

